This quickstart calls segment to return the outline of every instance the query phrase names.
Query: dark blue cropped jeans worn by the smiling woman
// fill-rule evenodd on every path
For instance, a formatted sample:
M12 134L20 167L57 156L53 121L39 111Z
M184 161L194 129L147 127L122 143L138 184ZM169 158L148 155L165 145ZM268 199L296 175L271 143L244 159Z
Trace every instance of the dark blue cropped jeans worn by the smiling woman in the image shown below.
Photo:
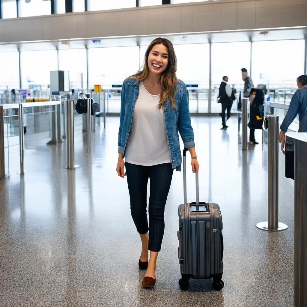
M138 233L149 231L150 251L160 251L164 234L164 208L173 177L171 163L153 166L126 163L131 216ZM147 183L150 180L147 221Z

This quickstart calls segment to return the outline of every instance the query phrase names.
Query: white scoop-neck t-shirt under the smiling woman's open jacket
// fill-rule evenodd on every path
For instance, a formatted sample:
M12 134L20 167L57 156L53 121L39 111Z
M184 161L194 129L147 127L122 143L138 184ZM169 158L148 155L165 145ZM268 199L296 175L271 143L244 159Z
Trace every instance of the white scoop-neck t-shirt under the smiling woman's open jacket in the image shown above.
M151 95L140 82L126 145L126 162L145 166L171 162L163 107L157 108L159 100L160 94Z

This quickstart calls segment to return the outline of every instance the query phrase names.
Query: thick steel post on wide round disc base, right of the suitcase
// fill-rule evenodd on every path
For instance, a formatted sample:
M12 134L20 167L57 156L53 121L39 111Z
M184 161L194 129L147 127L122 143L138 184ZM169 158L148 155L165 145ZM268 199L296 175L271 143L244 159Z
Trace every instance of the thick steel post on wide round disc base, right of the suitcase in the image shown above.
M256 225L266 231L282 231L288 226L278 223L278 115L267 115L264 127L268 129L268 221Z

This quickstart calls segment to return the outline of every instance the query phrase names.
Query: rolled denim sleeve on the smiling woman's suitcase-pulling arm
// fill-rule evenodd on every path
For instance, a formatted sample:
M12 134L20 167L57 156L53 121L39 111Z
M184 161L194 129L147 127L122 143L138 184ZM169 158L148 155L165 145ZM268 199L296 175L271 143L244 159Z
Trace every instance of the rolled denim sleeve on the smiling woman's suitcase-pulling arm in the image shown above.
M181 135L185 148L190 148L195 147L194 132L191 125L188 90L186 89L185 85L184 88L178 115L178 131Z

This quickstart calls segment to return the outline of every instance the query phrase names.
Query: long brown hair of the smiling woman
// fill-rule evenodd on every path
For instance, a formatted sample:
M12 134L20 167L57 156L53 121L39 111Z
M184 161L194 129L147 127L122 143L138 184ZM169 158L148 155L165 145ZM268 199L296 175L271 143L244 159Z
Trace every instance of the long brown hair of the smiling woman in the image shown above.
M177 57L176 57L175 50L174 50L174 47L171 41L169 41L166 38L161 38L161 37L154 39L149 44L145 52L143 68L138 71L137 75L131 76L131 78L138 80L138 81L143 81L147 78L150 72L149 67L148 67L148 57L149 57L150 51L153 49L153 46L157 44L163 44L165 47L167 47L168 52L169 52L167 67L165 68L165 71L162 72L161 77L160 77L161 95L160 95L160 101L158 104L158 108L161 109L161 107L163 106L163 103L168 97L172 105L172 108L177 110L174 104L175 93L177 89L177 81L178 81L177 76L176 76Z

